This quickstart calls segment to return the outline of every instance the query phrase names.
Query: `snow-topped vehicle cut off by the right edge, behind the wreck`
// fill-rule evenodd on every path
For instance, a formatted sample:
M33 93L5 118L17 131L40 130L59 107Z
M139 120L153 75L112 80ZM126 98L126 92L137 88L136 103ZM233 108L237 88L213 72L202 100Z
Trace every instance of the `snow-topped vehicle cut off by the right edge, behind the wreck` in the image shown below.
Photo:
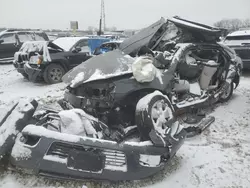
M250 30L240 30L226 36L223 43L234 49L243 61L244 69L250 69Z

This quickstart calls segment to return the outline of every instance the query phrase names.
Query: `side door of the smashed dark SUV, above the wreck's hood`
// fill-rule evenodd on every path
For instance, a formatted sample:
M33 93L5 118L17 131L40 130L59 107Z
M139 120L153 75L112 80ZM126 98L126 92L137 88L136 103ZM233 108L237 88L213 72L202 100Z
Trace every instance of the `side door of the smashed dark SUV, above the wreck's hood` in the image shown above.
M70 67L75 67L82 62L88 60L90 55L90 48L88 46L88 39L82 39L78 41L67 54L67 58L70 62Z

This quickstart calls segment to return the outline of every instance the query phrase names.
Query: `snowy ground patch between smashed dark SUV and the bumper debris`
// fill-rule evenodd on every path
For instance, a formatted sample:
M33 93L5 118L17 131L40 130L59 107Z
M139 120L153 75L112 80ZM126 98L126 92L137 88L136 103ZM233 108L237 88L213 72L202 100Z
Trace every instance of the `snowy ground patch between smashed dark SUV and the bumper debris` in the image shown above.
M0 106L18 102L20 98L35 98L42 103L51 103L63 96L66 87L64 83L32 83L24 79L13 65L1 65L0 78Z

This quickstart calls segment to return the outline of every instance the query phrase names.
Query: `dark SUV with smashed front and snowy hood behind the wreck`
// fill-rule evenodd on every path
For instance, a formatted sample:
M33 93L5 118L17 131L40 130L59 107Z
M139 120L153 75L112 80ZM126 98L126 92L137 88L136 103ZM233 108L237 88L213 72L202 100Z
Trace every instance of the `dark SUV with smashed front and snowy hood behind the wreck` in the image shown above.
M67 71L91 58L93 50L107 40L62 37L52 42L26 42L15 54L14 66L30 81L58 83Z

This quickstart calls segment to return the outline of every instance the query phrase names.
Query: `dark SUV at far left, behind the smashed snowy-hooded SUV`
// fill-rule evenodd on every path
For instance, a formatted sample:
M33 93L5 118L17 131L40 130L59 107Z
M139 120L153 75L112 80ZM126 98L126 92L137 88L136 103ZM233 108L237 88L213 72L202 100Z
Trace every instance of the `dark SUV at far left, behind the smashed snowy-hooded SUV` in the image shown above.
M48 41L42 31L8 29L0 32L0 63L12 63L14 54L26 41Z

